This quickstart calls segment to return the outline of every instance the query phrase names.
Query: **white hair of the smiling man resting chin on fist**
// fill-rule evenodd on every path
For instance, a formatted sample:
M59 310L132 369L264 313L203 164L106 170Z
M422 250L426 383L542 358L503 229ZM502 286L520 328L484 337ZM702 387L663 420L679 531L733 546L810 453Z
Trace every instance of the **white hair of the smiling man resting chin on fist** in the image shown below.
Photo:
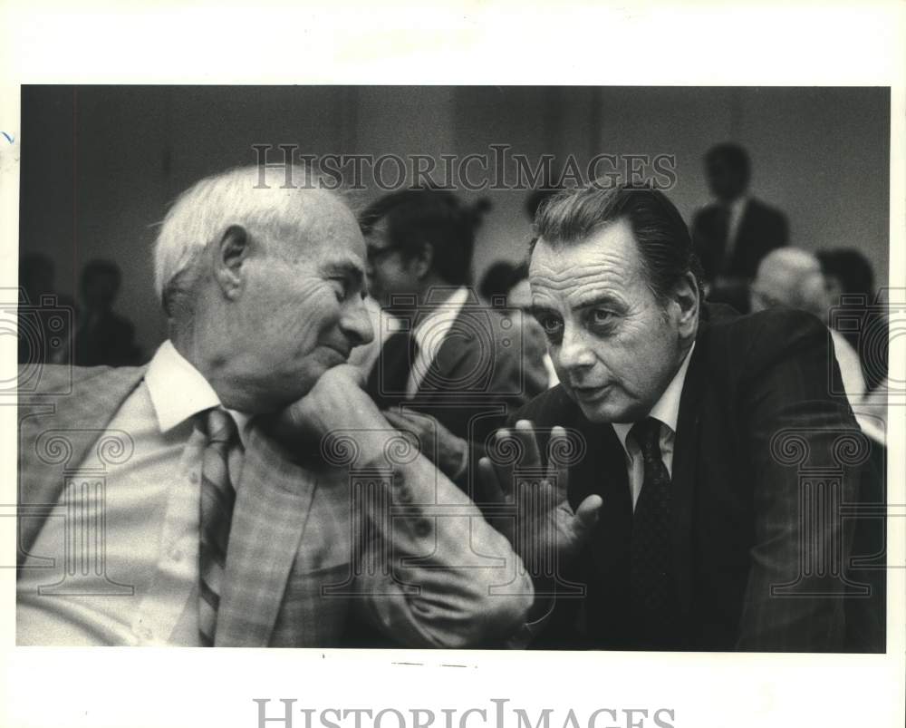
M196 263L208 244L233 225L265 237L285 226L304 228L310 215L305 203L311 195L344 199L339 192L323 189L313 170L302 166L240 167L207 177L183 192L163 219L154 246L154 288L168 317L191 310Z

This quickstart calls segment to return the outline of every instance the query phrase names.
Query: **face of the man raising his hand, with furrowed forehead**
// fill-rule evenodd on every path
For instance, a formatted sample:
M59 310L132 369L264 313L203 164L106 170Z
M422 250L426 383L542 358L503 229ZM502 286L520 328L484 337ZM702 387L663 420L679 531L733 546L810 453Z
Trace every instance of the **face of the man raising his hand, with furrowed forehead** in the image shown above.
M647 416L679 370L685 346L679 304L660 306L651 293L629 222L566 246L542 238L529 279L554 368L584 415L592 422Z

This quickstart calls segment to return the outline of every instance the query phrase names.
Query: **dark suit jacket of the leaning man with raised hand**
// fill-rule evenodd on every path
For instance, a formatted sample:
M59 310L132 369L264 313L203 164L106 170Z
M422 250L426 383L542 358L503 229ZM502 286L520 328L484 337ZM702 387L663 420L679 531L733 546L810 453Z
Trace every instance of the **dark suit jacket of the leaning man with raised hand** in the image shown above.
M829 363L836 364L817 319L710 308L683 387L673 455L676 644L646 645L629 632L632 507L625 453L612 426L586 420L561 386L512 418L539 428L563 425L584 438L585 456L569 471L569 500L575 508L592 493L603 499L583 553L561 568L585 596L554 600L536 646L845 648L839 593L858 588L837 572L850 554L853 522L830 518L813 528L806 514L817 511L803 504L824 499L831 510L852 504L871 441L845 399L830 394Z

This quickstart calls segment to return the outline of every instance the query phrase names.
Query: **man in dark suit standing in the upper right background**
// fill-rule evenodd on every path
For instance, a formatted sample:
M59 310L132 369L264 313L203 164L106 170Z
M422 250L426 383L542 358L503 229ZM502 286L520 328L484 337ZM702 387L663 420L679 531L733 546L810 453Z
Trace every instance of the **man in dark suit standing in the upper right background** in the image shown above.
M748 196L751 164L738 144L717 144L705 155L708 187L716 201L701 209L692 223L692 239L713 286L710 299L745 312L745 286L758 263L788 241L786 217Z

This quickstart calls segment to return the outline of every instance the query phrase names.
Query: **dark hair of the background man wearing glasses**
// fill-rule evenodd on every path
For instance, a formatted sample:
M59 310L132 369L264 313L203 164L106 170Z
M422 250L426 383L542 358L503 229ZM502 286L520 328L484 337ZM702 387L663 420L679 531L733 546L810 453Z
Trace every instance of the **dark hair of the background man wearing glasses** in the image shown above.
M371 203L361 213L359 224L367 236L385 220L390 245L400 248L406 257L418 255L429 243L432 270L447 283L462 286L471 281L475 231L488 209L487 199L466 207L443 189L406 189Z

